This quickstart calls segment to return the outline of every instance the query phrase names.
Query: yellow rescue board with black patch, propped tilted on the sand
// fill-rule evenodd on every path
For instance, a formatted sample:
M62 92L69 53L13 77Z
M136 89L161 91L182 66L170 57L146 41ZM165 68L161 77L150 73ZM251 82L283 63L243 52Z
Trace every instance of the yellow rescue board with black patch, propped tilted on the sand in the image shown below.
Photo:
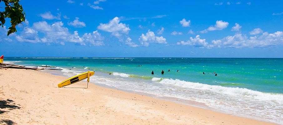
M89 74L89 76L88 76L88 74ZM70 84L73 84L73 83L77 83L78 81L81 81L85 78L89 78L93 74L94 74L93 71L91 71L91 72L88 71L88 72L76 75L72 78L68 78L67 80L63 81L62 83L59 83L58 87L63 87L63 86L67 86L67 85L70 85Z

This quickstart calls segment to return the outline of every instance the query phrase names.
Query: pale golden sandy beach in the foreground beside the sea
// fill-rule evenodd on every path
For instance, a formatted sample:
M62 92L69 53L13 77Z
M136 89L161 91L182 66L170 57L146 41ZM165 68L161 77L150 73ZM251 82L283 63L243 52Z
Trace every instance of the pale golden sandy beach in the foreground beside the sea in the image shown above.
M0 69L0 124L271 125L25 69Z

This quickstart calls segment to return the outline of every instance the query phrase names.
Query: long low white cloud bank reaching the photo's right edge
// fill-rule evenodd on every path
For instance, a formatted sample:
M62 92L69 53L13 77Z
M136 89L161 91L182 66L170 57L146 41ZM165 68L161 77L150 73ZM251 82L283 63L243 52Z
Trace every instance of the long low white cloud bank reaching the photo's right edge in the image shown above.
M261 35L248 38L246 35L236 33L234 36L227 36L220 40L212 40L213 47L271 47L283 45L283 32L264 32Z

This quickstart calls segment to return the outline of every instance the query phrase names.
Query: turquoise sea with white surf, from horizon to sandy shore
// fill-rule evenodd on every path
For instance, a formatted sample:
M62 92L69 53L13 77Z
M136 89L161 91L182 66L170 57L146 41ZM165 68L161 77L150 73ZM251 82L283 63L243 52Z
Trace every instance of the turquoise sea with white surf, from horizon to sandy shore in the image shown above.
M283 124L283 58L5 57L4 63L49 65L69 77L89 68L97 85Z

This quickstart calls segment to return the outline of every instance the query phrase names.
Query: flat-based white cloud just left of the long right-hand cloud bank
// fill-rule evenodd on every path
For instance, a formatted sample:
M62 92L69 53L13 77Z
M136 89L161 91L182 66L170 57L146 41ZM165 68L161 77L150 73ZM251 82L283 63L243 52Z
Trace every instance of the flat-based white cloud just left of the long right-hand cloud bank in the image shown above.
M205 42L205 39L200 39L200 35L195 36L195 38L190 37L190 40L187 42L181 41L177 42L177 45L190 45L190 46L195 46L195 47L200 47L200 48L210 48L210 45Z

